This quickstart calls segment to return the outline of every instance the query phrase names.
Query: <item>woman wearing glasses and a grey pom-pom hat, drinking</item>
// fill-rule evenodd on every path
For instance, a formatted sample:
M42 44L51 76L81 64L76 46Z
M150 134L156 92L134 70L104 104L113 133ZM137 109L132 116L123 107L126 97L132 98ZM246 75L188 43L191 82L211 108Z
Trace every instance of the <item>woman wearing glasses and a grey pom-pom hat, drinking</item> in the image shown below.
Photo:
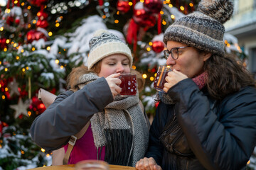
M198 11L164 33L169 72L137 169L245 169L256 144L255 81L225 55L228 0L201 1Z

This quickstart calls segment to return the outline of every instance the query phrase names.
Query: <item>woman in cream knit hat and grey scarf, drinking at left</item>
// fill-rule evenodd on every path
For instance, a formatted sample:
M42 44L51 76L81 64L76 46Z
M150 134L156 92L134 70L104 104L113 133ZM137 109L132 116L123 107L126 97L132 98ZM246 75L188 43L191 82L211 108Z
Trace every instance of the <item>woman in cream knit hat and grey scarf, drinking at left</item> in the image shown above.
M64 164L97 159L134 166L146 152L149 125L139 106L138 93L118 95L119 76L131 72L131 66L129 47L107 30L97 30L90 40L87 67L73 69L68 77L70 91L60 94L34 120L33 140L46 152L64 146L70 154ZM70 136L86 125L86 132L70 147L75 140Z

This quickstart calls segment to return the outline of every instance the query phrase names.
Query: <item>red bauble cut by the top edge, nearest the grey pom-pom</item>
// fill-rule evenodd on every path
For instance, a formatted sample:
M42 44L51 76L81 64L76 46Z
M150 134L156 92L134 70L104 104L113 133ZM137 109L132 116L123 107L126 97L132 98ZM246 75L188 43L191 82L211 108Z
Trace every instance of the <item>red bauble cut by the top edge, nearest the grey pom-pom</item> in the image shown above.
M159 13L161 8L163 7L162 0L145 0L144 1L144 9L146 12L151 13Z

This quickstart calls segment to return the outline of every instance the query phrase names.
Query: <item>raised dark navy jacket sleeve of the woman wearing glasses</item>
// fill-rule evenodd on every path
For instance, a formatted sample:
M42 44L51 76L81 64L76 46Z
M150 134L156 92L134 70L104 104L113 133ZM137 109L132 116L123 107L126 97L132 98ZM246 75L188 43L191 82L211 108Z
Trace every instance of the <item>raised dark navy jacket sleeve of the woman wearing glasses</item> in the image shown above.
M227 96L218 113L191 80L169 89L178 123L206 169L244 169L256 144L256 91L246 87Z

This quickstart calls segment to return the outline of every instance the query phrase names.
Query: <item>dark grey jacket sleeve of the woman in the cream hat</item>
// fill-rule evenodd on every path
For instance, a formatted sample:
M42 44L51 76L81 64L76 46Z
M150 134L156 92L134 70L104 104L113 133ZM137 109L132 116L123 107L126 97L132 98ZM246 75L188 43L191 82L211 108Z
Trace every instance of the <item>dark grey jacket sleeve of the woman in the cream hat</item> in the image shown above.
M73 93L65 91L39 115L31 125L31 137L46 152L65 145L78 133L94 113L103 111L113 101L104 78L97 79Z

